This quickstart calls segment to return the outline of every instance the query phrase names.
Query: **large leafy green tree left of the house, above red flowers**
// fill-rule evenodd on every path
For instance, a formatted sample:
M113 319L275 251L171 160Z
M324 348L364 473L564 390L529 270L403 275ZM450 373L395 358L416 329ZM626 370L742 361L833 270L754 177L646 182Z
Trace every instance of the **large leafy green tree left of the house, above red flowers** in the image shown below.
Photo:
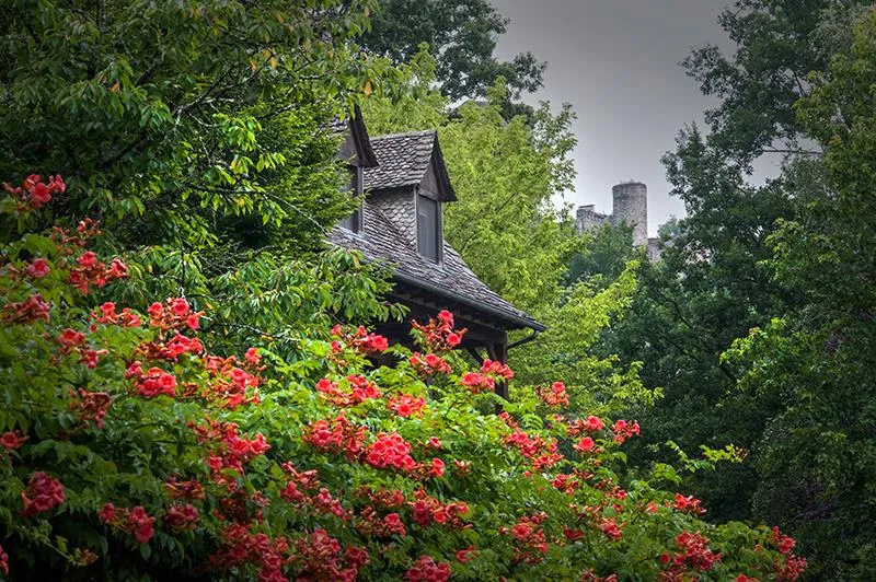
M104 251L129 265L117 299L222 302L210 333L228 349L264 334L293 345L333 317L397 315L374 269L322 253L355 205L331 121L393 73L351 42L374 7L11 2L0 170L62 174L58 219L101 220ZM0 237L19 232L9 220Z

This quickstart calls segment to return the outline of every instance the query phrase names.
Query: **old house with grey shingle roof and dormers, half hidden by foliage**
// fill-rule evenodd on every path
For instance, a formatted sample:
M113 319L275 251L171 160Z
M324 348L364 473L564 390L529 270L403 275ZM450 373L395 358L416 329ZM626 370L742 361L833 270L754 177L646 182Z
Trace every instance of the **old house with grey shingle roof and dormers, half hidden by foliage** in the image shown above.
M353 191L365 196L328 240L389 267L395 284L388 299L406 305L411 317L420 321L439 310L452 312L457 326L469 329L461 347L479 361L485 352L506 362L510 348L544 330L493 292L445 241L443 205L457 196L436 131L369 138L361 115L356 115L345 132L339 155L348 164ZM531 334L509 345L514 329ZM391 342L410 341L407 324L378 325L376 330Z

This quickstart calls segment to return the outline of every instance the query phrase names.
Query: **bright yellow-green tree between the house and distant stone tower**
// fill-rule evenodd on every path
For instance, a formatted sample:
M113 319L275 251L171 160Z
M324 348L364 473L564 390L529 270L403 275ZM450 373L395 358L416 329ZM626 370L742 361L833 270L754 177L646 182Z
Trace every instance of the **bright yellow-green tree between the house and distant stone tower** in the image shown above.
M549 371L560 366L579 409L608 412L620 403L653 401L638 381L638 363L620 366L616 358L591 353L599 331L624 313L637 266L611 257L629 232L580 237L568 208L554 203L574 179L570 109L553 115L542 104L530 121L522 116L505 121L506 90L497 84L487 103L469 102L451 112L448 100L430 90L434 67L429 55L417 54L401 68L403 96L368 100L365 117L373 133L438 128L458 197L445 211L446 238L491 289L548 326L538 341L510 351L519 377L523 384L550 384ZM631 248L624 247L629 258ZM601 279L578 283L567 272L575 256L613 265L604 266Z

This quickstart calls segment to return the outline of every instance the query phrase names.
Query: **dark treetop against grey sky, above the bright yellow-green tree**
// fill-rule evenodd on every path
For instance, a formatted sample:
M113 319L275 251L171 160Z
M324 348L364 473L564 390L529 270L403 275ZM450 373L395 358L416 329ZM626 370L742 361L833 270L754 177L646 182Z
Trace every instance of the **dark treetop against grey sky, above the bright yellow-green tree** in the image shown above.
M546 63L531 53L509 62L496 59L496 37L507 25L488 0L387 0L362 43L396 65L408 62L426 43L437 59L441 93L451 101L484 97L499 77L507 82L507 98L517 101L542 86Z

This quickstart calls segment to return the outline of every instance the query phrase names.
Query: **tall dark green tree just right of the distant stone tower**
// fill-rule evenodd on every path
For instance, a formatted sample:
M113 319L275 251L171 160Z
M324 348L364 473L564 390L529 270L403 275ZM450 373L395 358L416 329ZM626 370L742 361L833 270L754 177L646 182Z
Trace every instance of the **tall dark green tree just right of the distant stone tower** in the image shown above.
M722 360L738 337L768 325L802 301L797 289L772 279L764 261L777 220L799 207L797 181L788 174L763 186L749 183L752 162L771 151L818 159L793 103L811 89L807 74L823 70L830 55L850 42L848 23L863 2L741 0L719 23L736 45L730 56L716 46L696 49L683 66L703 93L721 104L706 112L707 137L683 130L664 159L673 194L688 218L657 265L641 271L630 315L613 329L604 353L644 362L647 386L664 388L653 410L636 411L652 426L653 444L669 427L685 449L726 442L753 450L781 410L775 394L737 388L745 372ZM648 454L644 450L637 454ZM715 519L751 515L753 464L724 466L693 476Z

